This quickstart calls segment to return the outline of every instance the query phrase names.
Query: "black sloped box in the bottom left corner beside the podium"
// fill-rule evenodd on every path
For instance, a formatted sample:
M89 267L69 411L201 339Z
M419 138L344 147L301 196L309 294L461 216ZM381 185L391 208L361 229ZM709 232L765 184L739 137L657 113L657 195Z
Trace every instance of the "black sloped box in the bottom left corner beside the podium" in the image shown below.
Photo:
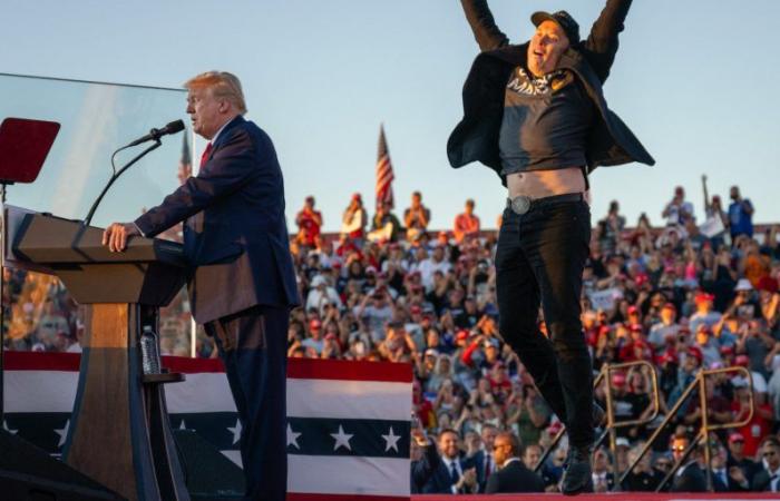
M0 499L92 501L124 498L27 441L0 430Z

